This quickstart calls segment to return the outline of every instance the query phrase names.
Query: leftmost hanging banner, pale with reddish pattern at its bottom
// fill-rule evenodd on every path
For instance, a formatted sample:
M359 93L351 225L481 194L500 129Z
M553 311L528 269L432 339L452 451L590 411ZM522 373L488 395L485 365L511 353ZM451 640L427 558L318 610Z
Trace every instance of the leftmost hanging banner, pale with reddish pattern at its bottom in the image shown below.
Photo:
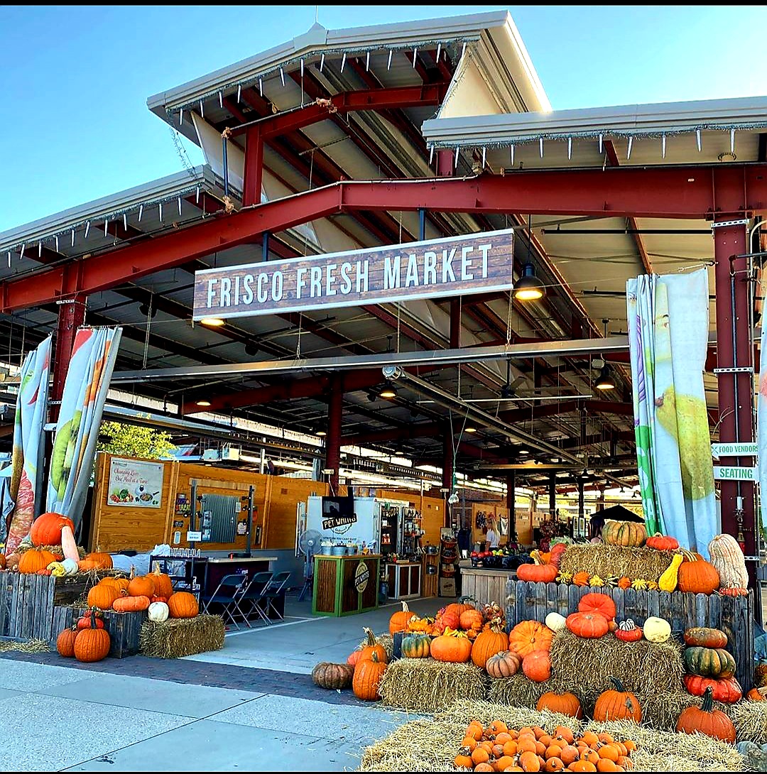
M5 539L6 556L13 553L36 515L42 511L42 473L45 454L43 424L48 412L48 375L52 337L29 352L19 374L19 395L13 426L12 471L9 495L15 502ZM2 519L0 538L5 538L5 517Z

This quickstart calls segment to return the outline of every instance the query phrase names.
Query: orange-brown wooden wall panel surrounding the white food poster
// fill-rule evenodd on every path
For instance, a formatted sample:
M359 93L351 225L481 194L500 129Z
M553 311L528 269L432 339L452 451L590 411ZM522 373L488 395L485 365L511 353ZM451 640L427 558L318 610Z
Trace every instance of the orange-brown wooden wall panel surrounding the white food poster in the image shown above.
M108 504L109 466L119 454L99 453L96 457L96 487L92 505L90 550L118 553L122 550L151 550L164 543L173 512L178 463L163 462L163 489L159 508L131 508ZM149 460L156 462L156 460Z

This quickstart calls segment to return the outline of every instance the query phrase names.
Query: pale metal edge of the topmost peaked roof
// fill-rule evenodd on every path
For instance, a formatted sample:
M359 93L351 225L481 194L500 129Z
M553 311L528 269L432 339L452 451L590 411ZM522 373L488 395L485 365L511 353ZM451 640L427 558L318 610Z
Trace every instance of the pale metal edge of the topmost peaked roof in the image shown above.
M233 87L244 85L246 81L255 83L259 76L266 77L280 65L285 66L302 56L381 48L396 49L419 43L445 43L449 40L477 40L483 30L505 26L508 18L508 11L496 11L350 29L325 29L315 24L303 35L256 54L255 57L248 57L203 77L187 81L186 84L153 94L146 104L150 110L164 117L166 110L177 110L200 99L204 100L217 91L231 91Z

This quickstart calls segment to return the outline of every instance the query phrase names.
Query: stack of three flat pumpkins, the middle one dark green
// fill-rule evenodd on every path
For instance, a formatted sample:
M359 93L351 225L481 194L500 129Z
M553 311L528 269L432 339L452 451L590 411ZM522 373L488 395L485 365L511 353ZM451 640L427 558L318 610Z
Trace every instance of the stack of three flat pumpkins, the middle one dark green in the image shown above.
M687 649L683 652L684 687L688 694L704 696L711 690L713 700L734 704L743 697L735 680L735 659L725 650L727 635L720 629L707 626L688 628L684 632Z

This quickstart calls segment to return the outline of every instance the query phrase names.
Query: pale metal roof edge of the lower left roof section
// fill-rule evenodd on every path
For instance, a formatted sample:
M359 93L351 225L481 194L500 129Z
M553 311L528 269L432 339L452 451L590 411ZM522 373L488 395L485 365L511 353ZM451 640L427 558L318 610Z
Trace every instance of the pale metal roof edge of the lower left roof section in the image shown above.
M15 250L19 245L69 233L87 221L101 221L104 217L117 217L142 204L156 204L176 199L189 190L214 190L220 186L209 166L195 166L191 170L152 180L134 188L110 194L87 204L79 204L68 210L40 218L0 233L0 252Z

